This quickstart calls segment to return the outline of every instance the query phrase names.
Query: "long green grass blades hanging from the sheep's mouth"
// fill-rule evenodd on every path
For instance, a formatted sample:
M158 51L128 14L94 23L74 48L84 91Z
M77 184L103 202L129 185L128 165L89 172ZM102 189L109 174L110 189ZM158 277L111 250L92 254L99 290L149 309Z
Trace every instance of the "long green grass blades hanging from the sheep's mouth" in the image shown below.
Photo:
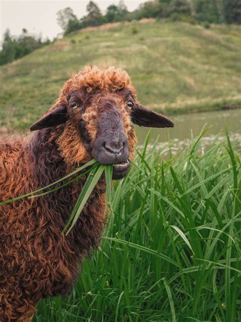
M71 176L75 175L76 173L83 171L84 169L91 167L89 169L87 169L86 171L84 171L83 173L81 173L80 175L78 175L77 177L75 177L74 179L69 180L68 182L56 187L55 189L51 189L48 190L46 192L43 192L44 190L50 188L51 186L53 186L56 183L62 182L63 180L66 180L68 178L70 178ZM84 208L84 205L86 204L89 196L91 195L91 193L93 192L97 182L99 181L102 173L105 171L105 180L106 180L106 205L108 205L109 201L110 201L110 197L111 197L111 179L112 179L112 172L113 172L113 166L112 165L101 165L100 163L98 163L95 159L91 160L90 162L86 163L85 165L83 165L82 167L74 170L73 172L69 173L68 175L66 175L65 177L52 182L36 191L33 191L31 193L10 199L10 200L6 200L3 202L0 202L0 206L6 205L8 203L17 201L19 199L22 198L38 198L38 197L42 197L45 196L47 194L50 194L52 192L55 192L67 185L72 184L74 181L80 179L81 177L88 175L83 189L81 190L81 193L75 203L75 206L70 214L70 218L65 226L65 228L63 229L63 233L66 232L66 235L70 232L70 230L74 227L76 221L78 220L81 211ZM42 193L40 193L42 192ZM40 194L38 194L40 193ZM69 228L69 229L68 229ZM68 229L68 230L67 230Z

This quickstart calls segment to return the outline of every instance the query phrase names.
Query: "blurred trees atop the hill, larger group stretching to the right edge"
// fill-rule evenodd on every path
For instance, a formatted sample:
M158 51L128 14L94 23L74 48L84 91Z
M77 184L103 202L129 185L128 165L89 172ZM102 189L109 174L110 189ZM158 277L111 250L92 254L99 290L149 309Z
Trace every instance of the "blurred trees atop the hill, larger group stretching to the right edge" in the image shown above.
M105 15L98 5L90 1L87 15L78 19L70 7L57 12L57 21L65 34L87 26L108 22L133 21L142 18L171 18L190 23L240 23L241 0L153 0L129 12L124 0L110 5Z

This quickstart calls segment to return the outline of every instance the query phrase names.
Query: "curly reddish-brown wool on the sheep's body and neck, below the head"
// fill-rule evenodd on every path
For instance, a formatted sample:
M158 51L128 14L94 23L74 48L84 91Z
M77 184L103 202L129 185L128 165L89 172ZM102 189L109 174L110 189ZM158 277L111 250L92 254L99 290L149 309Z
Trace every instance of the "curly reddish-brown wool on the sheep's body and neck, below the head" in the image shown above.
M38 131L29 141L21 137L0 141L0 200L34 191L73 170L59 154L52 131ZM44 197L1 207L1 322L25 321L41 298L67 294L82 258L97 247L105 224L103 181L74 229L67 236L62 234L84 180Z

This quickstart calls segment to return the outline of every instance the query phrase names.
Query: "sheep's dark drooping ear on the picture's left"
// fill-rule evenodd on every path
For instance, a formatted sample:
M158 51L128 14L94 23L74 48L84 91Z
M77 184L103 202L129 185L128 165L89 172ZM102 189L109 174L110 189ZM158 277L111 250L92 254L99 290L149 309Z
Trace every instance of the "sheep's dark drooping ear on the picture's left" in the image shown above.
M65 123L67 120L67 108L66 106L58 106L51 112L47 113L40 120L35 122L31 127L31 131L40 130L45 127L56 126L61 123Z

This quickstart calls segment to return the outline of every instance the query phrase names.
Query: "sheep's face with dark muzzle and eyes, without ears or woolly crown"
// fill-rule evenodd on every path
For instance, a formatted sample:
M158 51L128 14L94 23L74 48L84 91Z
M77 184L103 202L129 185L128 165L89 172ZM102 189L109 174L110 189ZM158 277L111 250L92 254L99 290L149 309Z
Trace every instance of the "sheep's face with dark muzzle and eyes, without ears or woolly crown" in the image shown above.
M71 93L67 113L88 155L101 164L113 164L113 178L123 178L133 156L135 135L131 109L135 97L130 89L114 92L84 90ZM131 106L130 106L131 105Z

